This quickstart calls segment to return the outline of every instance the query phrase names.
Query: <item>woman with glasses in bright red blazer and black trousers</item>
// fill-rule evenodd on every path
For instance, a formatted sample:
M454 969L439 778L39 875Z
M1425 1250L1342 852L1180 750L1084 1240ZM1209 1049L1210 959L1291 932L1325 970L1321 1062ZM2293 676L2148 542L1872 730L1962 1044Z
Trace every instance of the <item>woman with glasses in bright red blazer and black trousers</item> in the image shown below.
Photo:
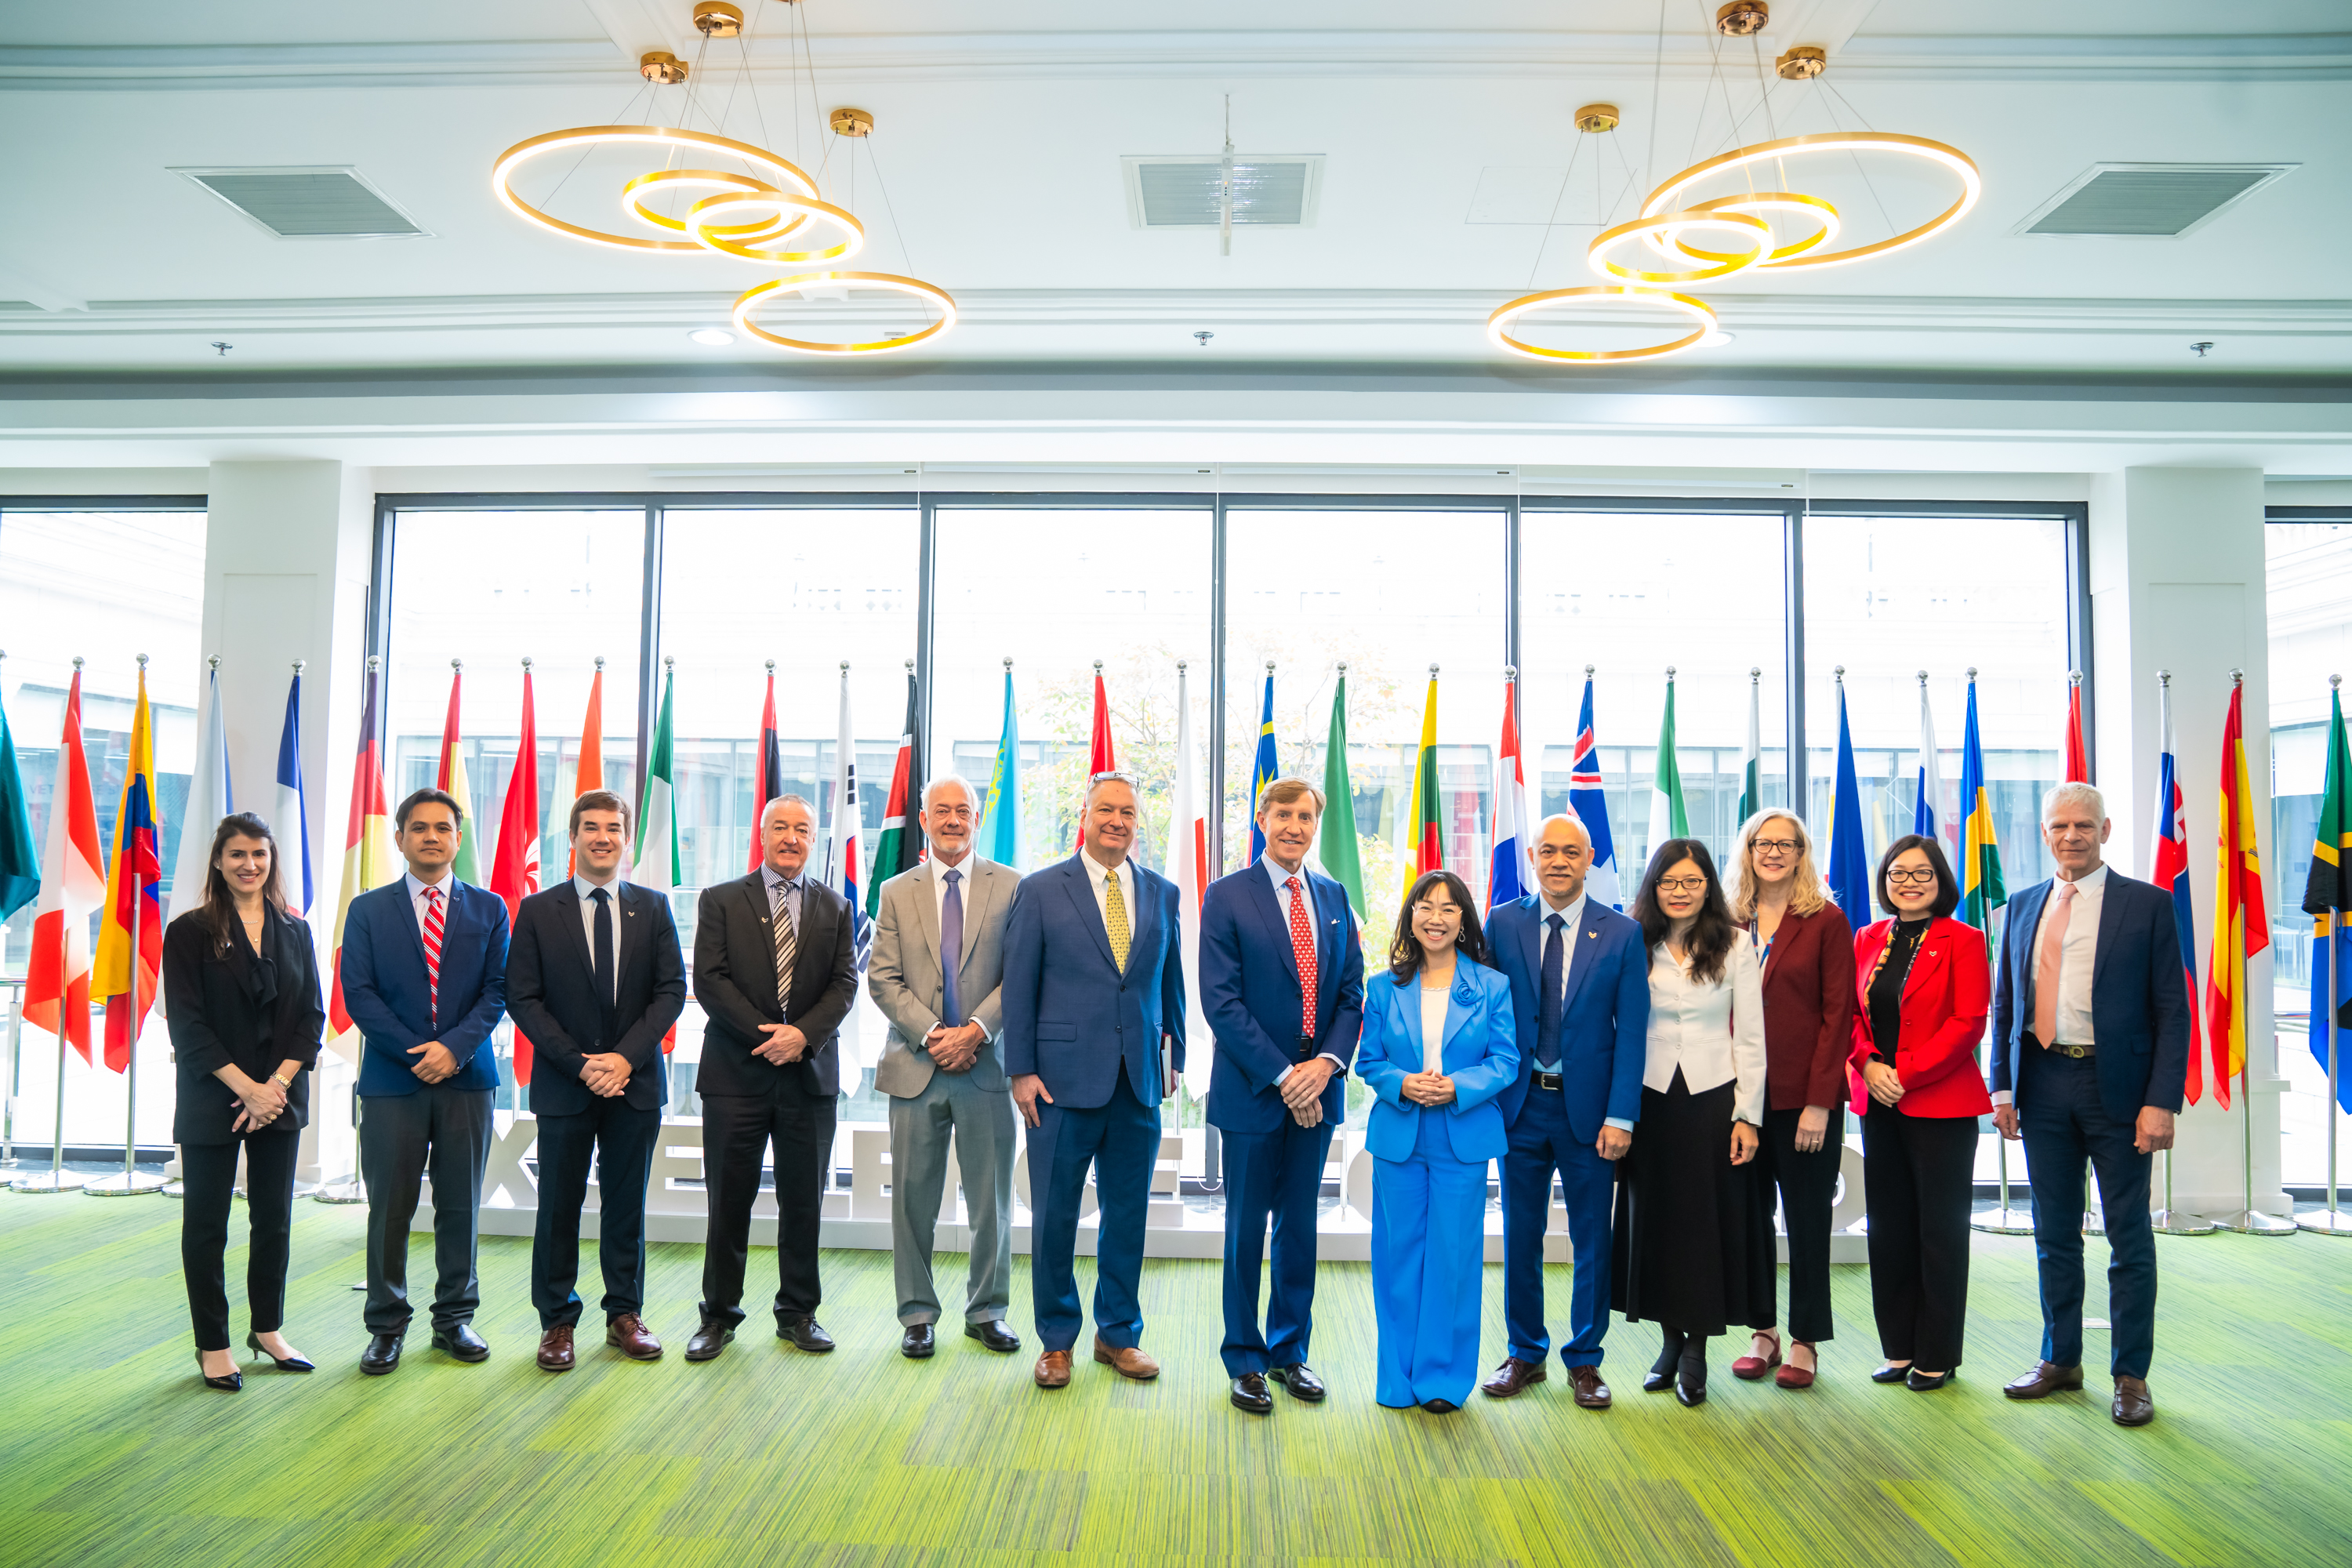
M1969 1199L1976 1124L1992 1095L1976 1041L1992 1011L1985 933L1952 919L1959 884L1943 844L1886 846L1879 905L1853 938L1853 1110L1863 1112L1870 1302L1886 1366L1872 1382L1940 1389L1969 1316Z

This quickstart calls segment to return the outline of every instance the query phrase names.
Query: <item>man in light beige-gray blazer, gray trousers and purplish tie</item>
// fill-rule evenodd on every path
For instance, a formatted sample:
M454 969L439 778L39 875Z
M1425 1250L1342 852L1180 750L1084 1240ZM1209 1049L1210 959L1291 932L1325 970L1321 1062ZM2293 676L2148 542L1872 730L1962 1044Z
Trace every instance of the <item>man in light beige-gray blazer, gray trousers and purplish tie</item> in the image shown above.
M889 1229L898 1279L898 1352L936 1349L931 1232L948 1178L948 1135L971 1215L964 1338L1021 1349L1004 1326L1014 1272L1014 1100L1004 1027L1004 917L1021 872L971 853L978 795L955 773L922 792L931 858L882 884L866 990L889 1018L875 1088L889 1095Z

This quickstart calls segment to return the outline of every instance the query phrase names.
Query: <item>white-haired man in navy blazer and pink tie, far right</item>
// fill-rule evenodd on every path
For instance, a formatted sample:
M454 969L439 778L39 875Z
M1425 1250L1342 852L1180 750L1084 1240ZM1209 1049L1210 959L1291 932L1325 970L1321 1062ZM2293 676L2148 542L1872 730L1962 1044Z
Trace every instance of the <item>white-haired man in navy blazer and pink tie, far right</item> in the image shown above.
M2098 1173L2107 1229L2107 1321L2124 1427L2157 1415L2157 1239L2147 1171L2173 1147L2190 1070L2190 992L2173 900L2100 863L2107 804L2086 783L2042 797L2058 875L2009 896L1992 987L1992 1121L2025 1138L2042 1269L2042 1361L2011 1399L2082 1387L2082 1164Z

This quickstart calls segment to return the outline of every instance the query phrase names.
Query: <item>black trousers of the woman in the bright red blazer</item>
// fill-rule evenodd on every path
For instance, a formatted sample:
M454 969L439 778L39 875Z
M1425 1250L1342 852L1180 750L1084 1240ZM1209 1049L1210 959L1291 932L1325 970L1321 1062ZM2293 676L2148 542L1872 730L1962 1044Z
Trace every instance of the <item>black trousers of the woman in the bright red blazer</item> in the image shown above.
M1969 1324L1976 1117L1905 1117L1872 1100L1863 1114L1863 1187L1879 1349L1889 1361L1947 1373L1959 1366Z

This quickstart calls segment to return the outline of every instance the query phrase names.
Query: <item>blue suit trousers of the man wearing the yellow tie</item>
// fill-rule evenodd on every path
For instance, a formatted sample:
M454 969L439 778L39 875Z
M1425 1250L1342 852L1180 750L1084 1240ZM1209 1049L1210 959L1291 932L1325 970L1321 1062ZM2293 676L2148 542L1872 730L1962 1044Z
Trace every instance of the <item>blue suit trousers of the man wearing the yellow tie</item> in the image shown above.
M1070 1349L1084 1326L1077 1300L1077 1206L1087 1197L1087 1168L1101 1215L1094 1241L1094 1331L1112 1349L1143 1342L1143 1220L1152 1199L1152 1166L1160 1164L1160 1103L1141 1100L1120 1070L1110 1100L1073 1110L1037 1100L1030 1128L1030 1286L1037 1342Z

